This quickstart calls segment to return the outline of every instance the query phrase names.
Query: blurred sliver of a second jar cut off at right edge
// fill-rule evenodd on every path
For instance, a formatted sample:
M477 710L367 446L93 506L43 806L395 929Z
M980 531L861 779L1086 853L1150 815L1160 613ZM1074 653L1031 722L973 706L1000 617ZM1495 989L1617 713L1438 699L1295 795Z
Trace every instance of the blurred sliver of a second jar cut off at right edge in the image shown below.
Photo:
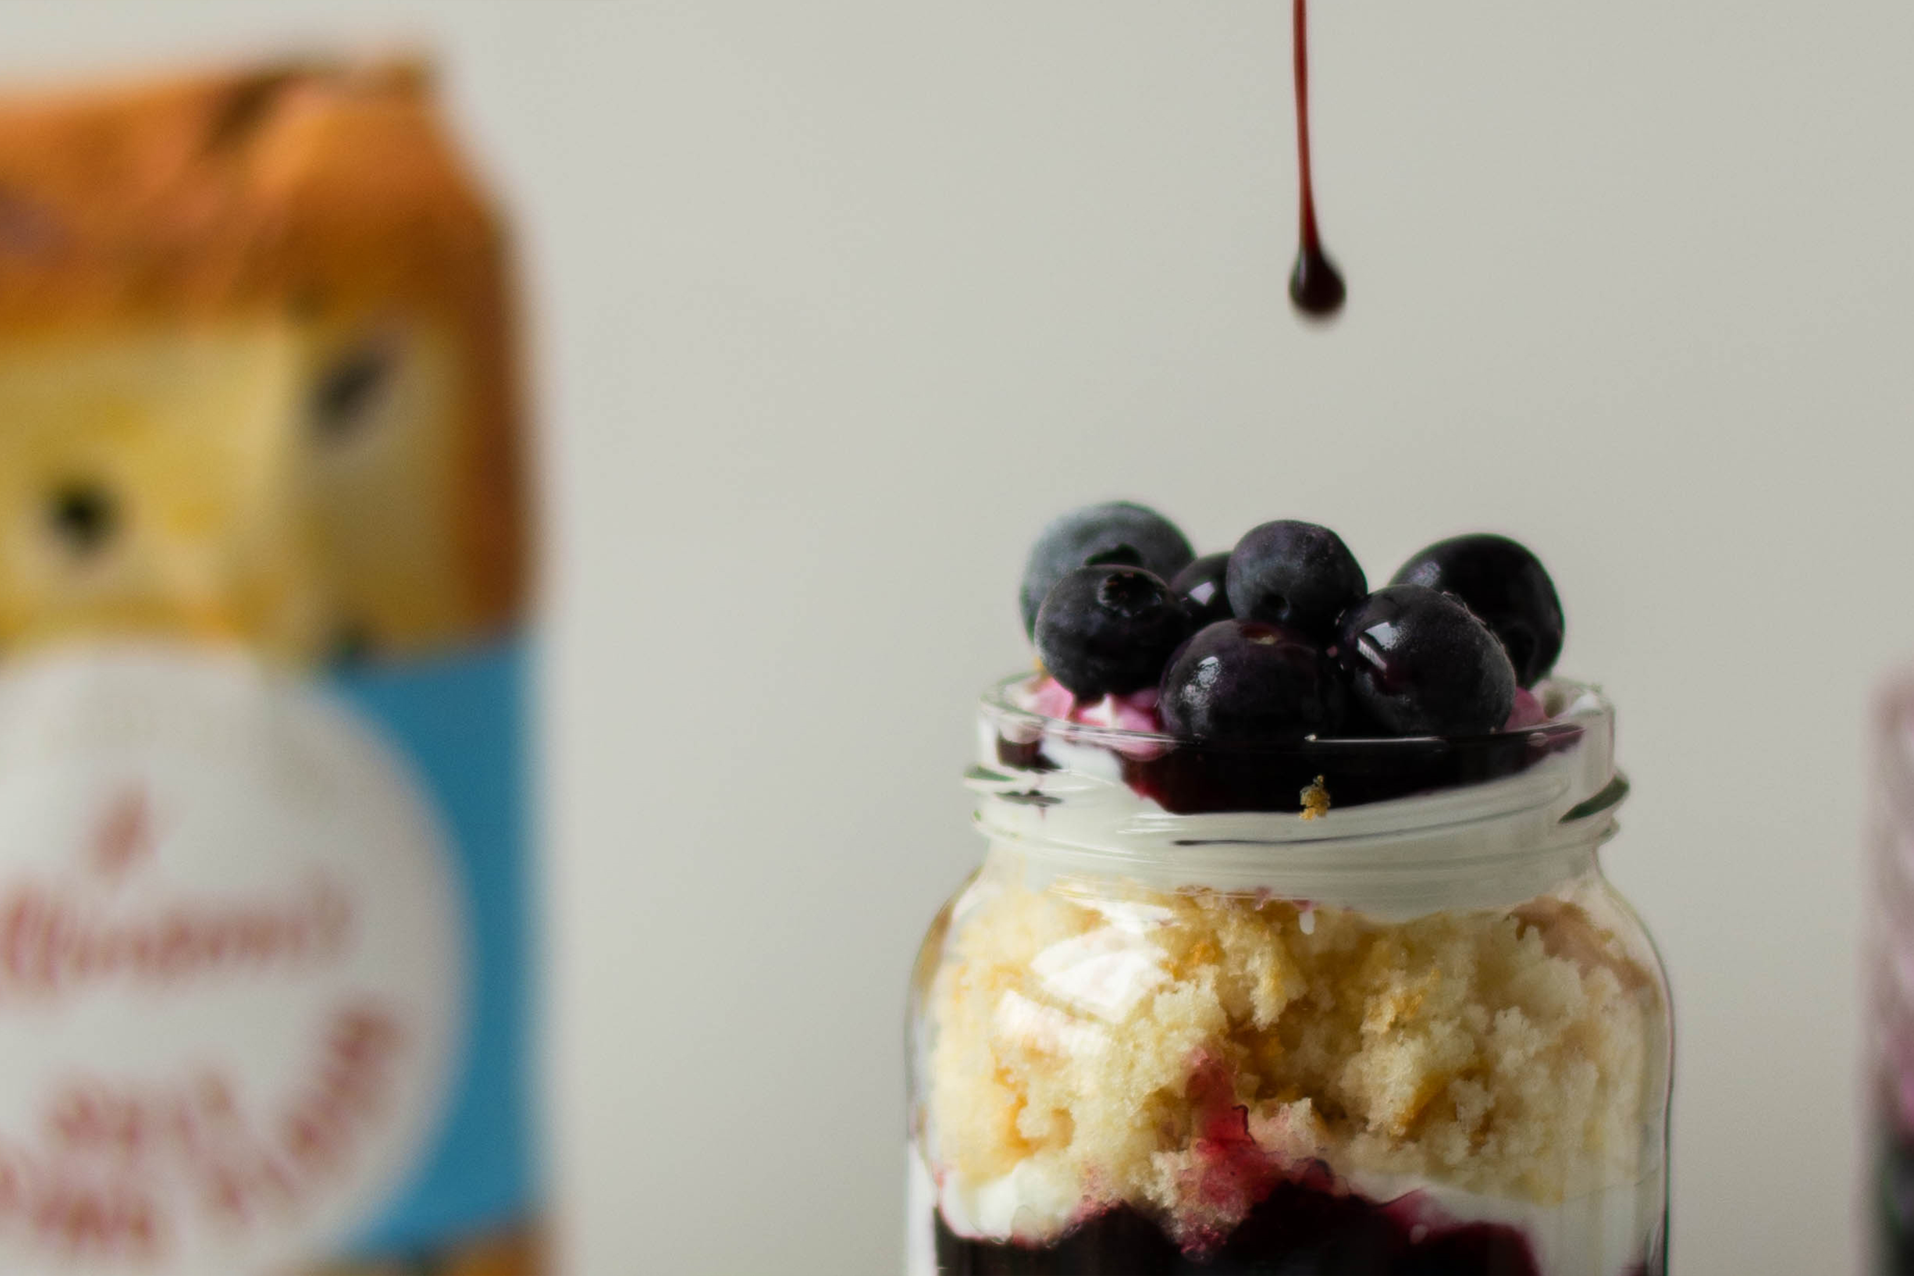
M1874 717L1872 1002L1874 1270L1914 1274L1914 679Z

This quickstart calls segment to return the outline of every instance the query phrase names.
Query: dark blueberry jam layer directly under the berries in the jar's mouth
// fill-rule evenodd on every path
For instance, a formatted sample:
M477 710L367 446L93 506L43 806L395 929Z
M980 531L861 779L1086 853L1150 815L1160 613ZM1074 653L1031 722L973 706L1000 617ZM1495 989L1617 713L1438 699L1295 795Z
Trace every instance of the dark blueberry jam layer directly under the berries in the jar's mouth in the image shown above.
M1527 771L1573 748L1579 723L1545 723L1462 738L1298 740L1269 746L1179 742L1154 756L1116 752L1124 782L1173 815L1302 811L1303 790L1326 790L1336 807L1481 784ZM1016 771L1055 771L1043 740L997 735L997 761Z

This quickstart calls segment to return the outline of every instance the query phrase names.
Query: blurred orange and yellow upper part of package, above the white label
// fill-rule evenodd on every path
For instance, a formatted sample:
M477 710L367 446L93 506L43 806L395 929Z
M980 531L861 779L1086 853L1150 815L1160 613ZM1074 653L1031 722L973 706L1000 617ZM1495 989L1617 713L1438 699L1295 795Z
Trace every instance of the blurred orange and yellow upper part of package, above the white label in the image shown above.
M500 224L413 63L0 101L0 652L480 637L524 589Z

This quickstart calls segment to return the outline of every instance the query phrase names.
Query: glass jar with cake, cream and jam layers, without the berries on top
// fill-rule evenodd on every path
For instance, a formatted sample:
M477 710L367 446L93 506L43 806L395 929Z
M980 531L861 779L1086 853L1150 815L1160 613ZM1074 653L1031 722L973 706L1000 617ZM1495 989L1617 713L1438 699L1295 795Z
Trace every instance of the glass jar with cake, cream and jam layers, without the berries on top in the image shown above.
M909 1276L1658 1276L1671 1020L1592 689L1458 740L982 704L911 985Z

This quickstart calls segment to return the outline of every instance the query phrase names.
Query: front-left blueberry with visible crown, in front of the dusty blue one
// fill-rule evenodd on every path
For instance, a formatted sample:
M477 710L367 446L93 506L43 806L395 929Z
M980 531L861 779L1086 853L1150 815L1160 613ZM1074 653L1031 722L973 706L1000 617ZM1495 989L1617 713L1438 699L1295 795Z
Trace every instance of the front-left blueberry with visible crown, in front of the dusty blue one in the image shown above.
M1141 566L1079 566L1037 608L1037 656L1078 700L1150 687L1185 635L1169 585Z

